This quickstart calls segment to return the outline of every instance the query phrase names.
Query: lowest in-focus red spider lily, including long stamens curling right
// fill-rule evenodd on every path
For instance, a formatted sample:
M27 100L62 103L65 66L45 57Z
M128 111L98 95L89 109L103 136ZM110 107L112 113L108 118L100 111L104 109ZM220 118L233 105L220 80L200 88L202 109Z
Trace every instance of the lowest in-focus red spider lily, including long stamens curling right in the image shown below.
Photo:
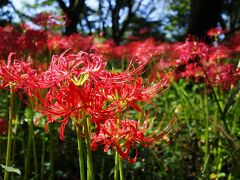
M161 121L159 127L147 135L147 131L152 128L153 121L149 125L147 119L143 125L140 125L138 121L130 119L108 119L100 125L100 131L93 134L91 148L96 150L99 145L104 145L104 152L107 152L109 148L115 148L123 159L134 163L137 160L138 151L136 150L136 155L132 159L129 156L130 149L135 148L136 144L150 146L154 142L159 142L172 131L175 123L175 121L170 121L166 128L161 130Z

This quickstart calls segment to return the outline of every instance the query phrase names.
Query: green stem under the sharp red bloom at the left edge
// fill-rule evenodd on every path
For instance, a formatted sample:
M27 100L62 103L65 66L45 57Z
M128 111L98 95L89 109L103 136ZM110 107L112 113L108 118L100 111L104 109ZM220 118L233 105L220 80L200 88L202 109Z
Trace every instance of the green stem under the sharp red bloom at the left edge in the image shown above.
M10 165L11 160L11 148L12 148L12 121L13 121L13 100L14 93L13 88L10 86L10 107L9 107L9 122L8 122L8 141L7 141L7 155L6 155L6 166ZM5 170L4 180L8 180L9 174Z

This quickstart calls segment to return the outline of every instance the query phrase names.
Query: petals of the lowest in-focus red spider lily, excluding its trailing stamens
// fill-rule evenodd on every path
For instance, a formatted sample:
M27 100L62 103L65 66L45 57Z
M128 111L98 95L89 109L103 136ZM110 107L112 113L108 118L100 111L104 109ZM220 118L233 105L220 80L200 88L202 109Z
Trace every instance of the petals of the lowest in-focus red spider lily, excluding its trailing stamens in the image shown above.
M154 139L145 137L142 130L139 129L139 123L135 120L109 119L100 125L100 132L92 136L91 148L95 150L99 145L104 145L104 152L110 147L115 147L116 151L123 159L129 162L136 162L136 156L131 159L129 157L131 147L136 143L149 145Z

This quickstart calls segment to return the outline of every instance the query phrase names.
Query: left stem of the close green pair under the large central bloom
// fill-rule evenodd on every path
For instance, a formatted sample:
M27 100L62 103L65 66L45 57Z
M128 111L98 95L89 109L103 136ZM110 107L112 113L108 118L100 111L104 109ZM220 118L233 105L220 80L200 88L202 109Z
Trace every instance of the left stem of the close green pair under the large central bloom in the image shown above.
M77 126L76 127L77 133L77 142L78 142L78 160L79 160L79 167L80 167L80 178L81 180L85 180L85 169L84 169L84 159L83 159L83 139L81 137L81 130Z

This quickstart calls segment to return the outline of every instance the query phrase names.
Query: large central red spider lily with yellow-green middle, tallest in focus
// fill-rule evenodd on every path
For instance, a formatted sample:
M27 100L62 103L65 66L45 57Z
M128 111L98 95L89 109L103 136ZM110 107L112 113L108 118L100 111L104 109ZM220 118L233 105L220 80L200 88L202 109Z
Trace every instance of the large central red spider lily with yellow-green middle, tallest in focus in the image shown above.
M62 123L60 137L70 116L88 112L96 98L92 87L92 76L105 67L101 56L80 52L74 55L54 56L49 69L36 76L36 86L26 86L24 92L30 97L30 105L48 117L48 123ZM103 103L102 103L103 104ZM91 112L91 111L90 111ZM46 124L46 125L47 125Z

